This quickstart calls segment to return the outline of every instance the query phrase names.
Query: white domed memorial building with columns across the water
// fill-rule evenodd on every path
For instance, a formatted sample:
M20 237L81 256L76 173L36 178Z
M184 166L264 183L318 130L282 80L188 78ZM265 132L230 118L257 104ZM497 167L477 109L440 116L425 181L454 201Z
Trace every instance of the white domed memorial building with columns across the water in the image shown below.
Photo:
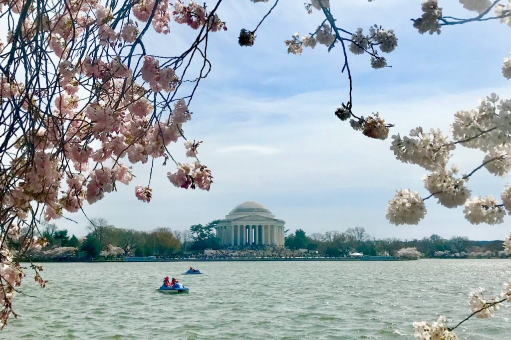
M263 205L244 202L220 220L216 227L224 246L284 246L284 222Z

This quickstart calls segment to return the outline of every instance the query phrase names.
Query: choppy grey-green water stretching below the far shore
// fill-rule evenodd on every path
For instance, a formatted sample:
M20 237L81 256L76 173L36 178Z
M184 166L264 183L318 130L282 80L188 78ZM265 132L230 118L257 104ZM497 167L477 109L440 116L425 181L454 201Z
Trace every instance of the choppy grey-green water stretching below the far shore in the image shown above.
M180 275L193 265L204 275ZM414 321L469 315L467 294L500 292L511 260L45 263L24 280L2 339L411 339ZM155 291L178 277L189 295ZM510 304L511 305L511 304ZM511 306L459 338L511 338Z

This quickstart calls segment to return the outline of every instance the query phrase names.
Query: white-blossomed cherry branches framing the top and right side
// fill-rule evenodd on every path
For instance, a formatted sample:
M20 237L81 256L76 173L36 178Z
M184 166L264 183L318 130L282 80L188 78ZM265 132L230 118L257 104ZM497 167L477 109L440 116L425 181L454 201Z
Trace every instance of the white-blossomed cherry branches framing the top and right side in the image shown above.
M251 1L260 3L269 0ZM444 15L438 2L439 0L424 0L421 17L412 20L413 27L420 34L440 34L443 27L474 21L499 20L511 27L511 0L459 0L465 9L476 13L467 19ZM274 2L268 14L277 3L278 0ZM378 25L370 27L368 34L365 34L362 28L353 31L350 28L338 27L330 10L330 0L310 0L306 3L305 9L309 13L322 12L324 20L312 33L301 37L295 33L291 39L286 40L288 53L300 55L304 48L314 48L321 44L330 51L336 45L340 45L344 57L341 71L346 71L350 85L348 100L341 104L335 115L341 120L350 119L352 128L360 130L367 137L386 139L389 128L393 125L386 124L378 113L365 118L354 113L349 52L355 55L368 55L371 67L379 69L388 66L385 57L379 53L392 52L398 45L398 38L393 30ZM242 30L239 37L240 45L253 45L255 31L260 25L261 23L253 31ZM501 72L504 78L511 79L511 58L504 58ZM439 129L428 131L417 127L410 131L409 136L402 137L397 134L391 137L390 150L398 160L419 165L429 172L423 177L429 195L422 198L417 191L398 190L396 196L388 202L386 209L386 217L390 223L395 225L419 223L426 215L425 201L433 197L447 208L464 205L464 216L472 224L501 224L504 216L511 214L511 186L504 186L500 195L502 203L499 203L492 195L471 196L471 190L466 185L470 177L483 168L499 177L504 177L511 171L511 99L500 99L497 94L492 93L475 109L457 111L450 132L452 138ZM452 152L458 145L477 149L485 154L479 164L462 175L458 175L456 166L449 166ZM406 254L409 250L402 249L398 253L400 252ZM511 254L511 235L504 241L504 252ZM415 323L414 335L421 339L456 339L453 329L474 315L478 318L492 317L497 310L497 304L504 301L511 301L509 283L504 285L500 295L493 298L484 298L482 290L475 290L469 300L473 314L467 319L454 327L447 326L445 317L440 317L431 325L426 322Z

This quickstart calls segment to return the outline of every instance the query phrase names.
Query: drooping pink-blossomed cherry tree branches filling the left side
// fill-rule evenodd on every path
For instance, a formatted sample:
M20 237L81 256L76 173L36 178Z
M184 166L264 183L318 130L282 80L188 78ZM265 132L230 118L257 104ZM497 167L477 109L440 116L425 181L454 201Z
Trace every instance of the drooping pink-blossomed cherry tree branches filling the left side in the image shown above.
M208 36L226 30L221 0L211 3L0 1L0 25L9 29L0 40L0 329L25 276L18 260L47 244L38 222L100 201L133 180L129 164L152 170L158 158L175 163L173 185L210 189L200 142L184 143L190 163L177 162L169 145L184 138L190 102L211 69ZM172 21L196 37L175 56L151 51L147 33L170 34ZM149 202L150 179L139 184L135 197ZM31 268L44 286L42 268Z

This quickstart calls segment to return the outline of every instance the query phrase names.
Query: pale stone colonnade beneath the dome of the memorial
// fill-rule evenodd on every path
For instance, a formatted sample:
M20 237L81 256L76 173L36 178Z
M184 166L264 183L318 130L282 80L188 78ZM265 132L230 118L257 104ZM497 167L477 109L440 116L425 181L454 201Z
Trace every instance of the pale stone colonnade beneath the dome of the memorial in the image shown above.
M284 226L234 225L216 228L220 244L228 246L284 246Z

